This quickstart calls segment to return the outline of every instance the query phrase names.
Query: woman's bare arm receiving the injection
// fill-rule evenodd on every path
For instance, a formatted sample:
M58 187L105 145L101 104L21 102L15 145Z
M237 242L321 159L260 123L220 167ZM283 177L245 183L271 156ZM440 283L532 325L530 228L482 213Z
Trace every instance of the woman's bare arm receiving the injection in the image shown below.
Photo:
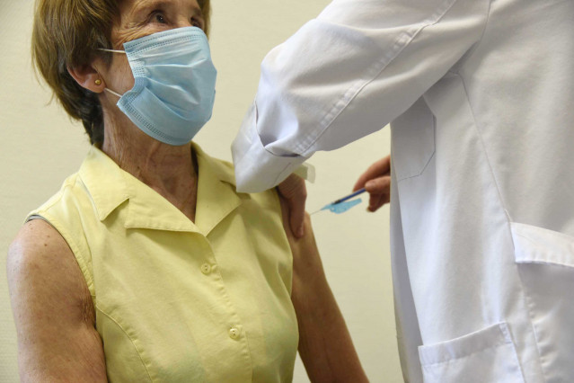
M299 325L299 354L312 382L366 382L365 371L333 297L305 214L305 236L296 239L282 202L283 226L293 253L291 300Z

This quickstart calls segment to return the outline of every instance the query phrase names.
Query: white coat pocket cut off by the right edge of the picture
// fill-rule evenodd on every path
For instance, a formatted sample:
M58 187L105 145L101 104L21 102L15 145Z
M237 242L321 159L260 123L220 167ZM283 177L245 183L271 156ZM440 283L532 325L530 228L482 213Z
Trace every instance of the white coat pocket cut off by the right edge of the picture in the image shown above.
M515 260L548 382L574 377L574 237L512 223Z

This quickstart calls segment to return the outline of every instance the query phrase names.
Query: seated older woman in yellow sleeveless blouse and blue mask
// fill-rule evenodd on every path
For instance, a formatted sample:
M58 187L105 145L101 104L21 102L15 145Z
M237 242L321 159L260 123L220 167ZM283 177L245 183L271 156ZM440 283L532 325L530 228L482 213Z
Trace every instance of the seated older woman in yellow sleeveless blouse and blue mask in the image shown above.
M36 65L93 147L10 248L22 380L289 381L297 348L312 380L365 380L308 219L296 239L190 143L209 1L37 6Z

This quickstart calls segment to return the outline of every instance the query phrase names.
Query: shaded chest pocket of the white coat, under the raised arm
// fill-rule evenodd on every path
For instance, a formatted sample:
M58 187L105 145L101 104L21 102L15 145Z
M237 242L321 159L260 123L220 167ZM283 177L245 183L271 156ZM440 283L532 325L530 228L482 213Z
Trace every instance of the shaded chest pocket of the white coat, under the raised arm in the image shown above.
M421 97L391 124L397 182L423 174L435 154L435 116Z

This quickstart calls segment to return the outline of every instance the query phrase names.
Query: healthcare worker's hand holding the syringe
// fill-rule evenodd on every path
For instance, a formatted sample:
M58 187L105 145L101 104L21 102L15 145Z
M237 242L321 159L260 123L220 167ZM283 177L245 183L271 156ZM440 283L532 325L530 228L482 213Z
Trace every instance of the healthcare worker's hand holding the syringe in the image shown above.
M375 162L358 177L353 191L361 188L365 188L370 195L367 209L371 212L391 201L391 156Z

